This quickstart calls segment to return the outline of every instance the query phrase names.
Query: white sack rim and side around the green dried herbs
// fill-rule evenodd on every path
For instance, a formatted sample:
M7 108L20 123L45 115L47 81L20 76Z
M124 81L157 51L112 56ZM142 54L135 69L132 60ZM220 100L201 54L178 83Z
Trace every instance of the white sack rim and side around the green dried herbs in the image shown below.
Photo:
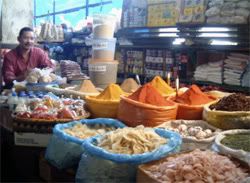
M215 145L220 153L225 155L230 155L234 158L237 158L250 166L250 152L244 151L242 149L233 149L229 146L226 146L222 143L222 140L226 137L226 135L234 135L234 134L250 134L250 130L227 130L224 132L219 133L215 139ZM241 143L238 141L238 143ZM250 143L248 144L250 146Z

